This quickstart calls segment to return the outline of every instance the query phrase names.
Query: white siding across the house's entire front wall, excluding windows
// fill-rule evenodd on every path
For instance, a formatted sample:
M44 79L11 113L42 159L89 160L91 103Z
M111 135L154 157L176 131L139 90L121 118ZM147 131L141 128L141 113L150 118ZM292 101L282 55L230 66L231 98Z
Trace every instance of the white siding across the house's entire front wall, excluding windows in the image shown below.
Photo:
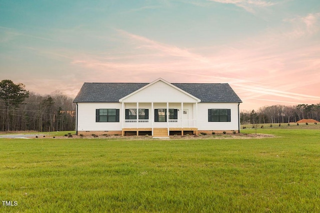
M121 103L78 103L78 131L120 131L124 119ZM198 130L238 130L238 103L198 103L195 115L195 104L183 103L183 109L188 109L189 119L195 119ZM136 103L125 103L124 108L135 109ZM140 109L149 109L149 120L154 120L150 103L139 103ZM153 109L166 109L166 103L154 103ZM179 109L178 119L181 119L181 103L169 103L169 108ZM96 109L119 109L120 122L95 122ZM230 109L231 122L208 122L208 109ZM155 122L154 128L167 127L166 122Z

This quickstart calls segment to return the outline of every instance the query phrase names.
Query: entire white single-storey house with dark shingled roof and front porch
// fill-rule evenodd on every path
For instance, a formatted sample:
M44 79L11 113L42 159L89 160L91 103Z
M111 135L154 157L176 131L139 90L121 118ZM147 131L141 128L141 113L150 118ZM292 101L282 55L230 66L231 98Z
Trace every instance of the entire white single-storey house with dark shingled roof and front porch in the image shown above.
M227 83L84 83L73 102L77 134L240 131L242 101Z

